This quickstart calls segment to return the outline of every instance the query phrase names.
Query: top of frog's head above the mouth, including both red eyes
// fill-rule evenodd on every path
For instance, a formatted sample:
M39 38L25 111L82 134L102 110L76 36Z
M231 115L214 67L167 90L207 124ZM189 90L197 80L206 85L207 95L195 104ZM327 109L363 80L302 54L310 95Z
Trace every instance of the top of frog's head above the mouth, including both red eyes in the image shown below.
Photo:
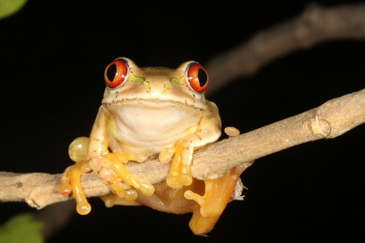
M209 83L207 71L194 61L184 62L176 69L138 67L128 58L117 58L104 73L107 88L103 104L107 107L130 101L183 104L206 109L204 92Z

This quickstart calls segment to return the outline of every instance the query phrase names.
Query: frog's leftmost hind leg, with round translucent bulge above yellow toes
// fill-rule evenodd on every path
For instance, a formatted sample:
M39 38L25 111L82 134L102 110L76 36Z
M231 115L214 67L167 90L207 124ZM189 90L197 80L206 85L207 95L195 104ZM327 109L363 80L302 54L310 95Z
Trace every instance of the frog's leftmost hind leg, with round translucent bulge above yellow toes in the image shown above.
M70 158L76 162L75 165L67 167L62 174L61 184L59 185L59 193L67 195L71 191L76 199L76 210L81 215L88 214L91 211L91 206L88 203L84 191L82 190L80 183L81 173L89 171L86 161L87 146L89 138L80 137L75 139L69 146Z

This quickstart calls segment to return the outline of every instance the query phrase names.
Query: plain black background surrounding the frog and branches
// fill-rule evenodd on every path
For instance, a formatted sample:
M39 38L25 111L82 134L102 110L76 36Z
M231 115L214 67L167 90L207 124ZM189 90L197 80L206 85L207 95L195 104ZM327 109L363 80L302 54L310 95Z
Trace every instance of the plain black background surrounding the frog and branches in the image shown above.
M29 1L0 20L0 170L55 174L71 165L68 146L89 135L104 92L104 68L115 58L128 57L139 66L177 67L188 60L204 66L255 32L299 15L307 4ZM277 59L208 99L218 105L223 127L248 132L363 89L364 54L364 42L326 42ZM141 237L232 242L355 238L365 226L364 129L361 125L335 139L257 159L241 176L249 188L245 200L228 204L208 237L191 233L189 214L144 206L105 208L90 198L91 213L75 214L49 241L70 235L76 235L72 241L121 242ZM36 210L25 203L3 203L0 223L26 211Z

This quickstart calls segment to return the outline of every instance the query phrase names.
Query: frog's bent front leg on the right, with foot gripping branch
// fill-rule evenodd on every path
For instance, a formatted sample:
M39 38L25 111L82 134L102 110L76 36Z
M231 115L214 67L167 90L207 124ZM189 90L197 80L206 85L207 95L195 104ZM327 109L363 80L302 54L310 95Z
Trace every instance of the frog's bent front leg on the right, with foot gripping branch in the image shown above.
M217 106L208 101L207 109L201 117L199 126L193 134L189 134L177 140L173 147L160 153L160 161L168 163L173 154L171 171L166 183L172 188L181 185L188 186L192 183L190 167L194 150L213 143L220 137L221 122Z

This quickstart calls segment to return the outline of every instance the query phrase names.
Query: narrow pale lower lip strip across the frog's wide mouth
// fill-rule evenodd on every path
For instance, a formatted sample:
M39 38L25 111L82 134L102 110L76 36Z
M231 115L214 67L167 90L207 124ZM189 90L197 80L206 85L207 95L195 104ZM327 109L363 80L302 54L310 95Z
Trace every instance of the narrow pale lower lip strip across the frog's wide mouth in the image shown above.
M119 101L112 101L112 102L106 102L102 101L102 104L106 109L118 109L122 107L139 107L139 108L145 108L147 109L176 109L176 107L180 107L181 109L188 109L188 110L205 110L207 107L205 104L188 104L188 103L182 103L180 101L174 101L174 100L158 100L158 99L124 99Z

